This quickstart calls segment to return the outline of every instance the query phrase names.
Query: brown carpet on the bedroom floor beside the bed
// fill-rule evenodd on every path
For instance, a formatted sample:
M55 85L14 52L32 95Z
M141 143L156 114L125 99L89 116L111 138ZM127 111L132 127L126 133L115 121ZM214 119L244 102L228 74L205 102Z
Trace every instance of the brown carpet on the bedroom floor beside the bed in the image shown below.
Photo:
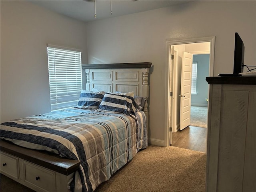
M206 154L174 146L148 146L95 192L204 192ZM1 175L2 192L32 192Z

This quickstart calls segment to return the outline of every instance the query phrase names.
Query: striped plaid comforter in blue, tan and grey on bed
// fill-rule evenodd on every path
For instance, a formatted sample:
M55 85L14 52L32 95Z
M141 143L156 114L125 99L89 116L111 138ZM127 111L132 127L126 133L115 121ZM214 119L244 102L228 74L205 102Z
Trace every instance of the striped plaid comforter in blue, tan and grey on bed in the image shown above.
M69 108L1 124L1 138L79 160L71 191L92 192L148 145L144 112Z

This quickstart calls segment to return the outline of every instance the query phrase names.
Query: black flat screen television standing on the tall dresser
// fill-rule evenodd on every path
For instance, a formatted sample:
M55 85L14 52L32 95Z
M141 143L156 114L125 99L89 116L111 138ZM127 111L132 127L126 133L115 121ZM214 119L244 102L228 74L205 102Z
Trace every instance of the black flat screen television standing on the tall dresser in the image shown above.
M238 33L235 33L235 52L234 52L234 70L233 74L239 74L244 71L244 43Z

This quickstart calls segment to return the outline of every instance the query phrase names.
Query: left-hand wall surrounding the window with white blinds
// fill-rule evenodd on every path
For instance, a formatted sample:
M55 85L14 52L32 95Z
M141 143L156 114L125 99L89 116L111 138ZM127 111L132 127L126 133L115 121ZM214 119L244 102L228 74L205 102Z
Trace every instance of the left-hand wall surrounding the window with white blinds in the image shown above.
M86 24L27 1L1 1L1 122L50 112L46 44L82 50Z

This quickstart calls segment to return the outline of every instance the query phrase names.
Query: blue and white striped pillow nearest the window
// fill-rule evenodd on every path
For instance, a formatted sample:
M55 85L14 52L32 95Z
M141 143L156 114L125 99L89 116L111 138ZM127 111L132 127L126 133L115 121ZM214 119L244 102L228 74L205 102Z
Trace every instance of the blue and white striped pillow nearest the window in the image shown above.
M104 94L104 91L82 90L76 107L80 109L98 109Z

